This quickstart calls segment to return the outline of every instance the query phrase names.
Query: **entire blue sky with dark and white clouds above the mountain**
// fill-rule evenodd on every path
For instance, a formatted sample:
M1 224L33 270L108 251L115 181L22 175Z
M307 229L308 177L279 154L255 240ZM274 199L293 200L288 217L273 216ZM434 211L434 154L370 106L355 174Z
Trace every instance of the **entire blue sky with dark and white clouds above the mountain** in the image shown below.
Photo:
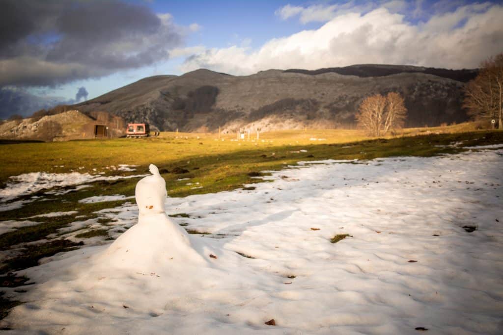
M2 0L0 119L144 77L362 63L475 68L503 52L503 3Z

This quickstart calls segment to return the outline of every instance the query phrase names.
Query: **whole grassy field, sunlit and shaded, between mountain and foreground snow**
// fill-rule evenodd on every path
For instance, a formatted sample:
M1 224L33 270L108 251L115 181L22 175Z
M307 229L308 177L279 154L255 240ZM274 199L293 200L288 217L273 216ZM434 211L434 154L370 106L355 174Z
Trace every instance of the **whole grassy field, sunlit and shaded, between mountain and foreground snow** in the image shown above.
M168 195L183 197L191 194L213 193L243 187L243 184L262 182L253 176L261 171L279 170L298 161L321 159L368 160L389 156L433 156L465 150L465 145L503 143L503 132L473 131L473 124L443 128L406 129L403 136L368 139L357 130L281 131L261 134L260 140L235 140L235 134L175 134L161 133L158 138L88 140L57 143L19 143L0 145L0 182L10 176L45 171L68 173L89 172L104 175L146 173L148 164L159 167L166 180ZM462 142L462 146L452 146ZM138 165L136 171L111 171L118 164ZM179 179L189 178L192 185ZM97 181L91 187L65 195L47 194L41 190L16 200L31 199L19 209L0 212L3 220L21 220L34 215L58 211L77 211L79 220L96 219L100 229L83 228L75 238L95 236L107 238L109 220L98 211L113 208L130 200L82 203L78 200L95 195L134 195L139 178ZM193 187L198 183L198 188ZM33 196L39 198L33 199ZM71 250L79 243L61 240L58 230L76 221L76 215L34 217L35 226L27 226L0 235L0 250L16 249L15 257L3 260L0 272L33 266L42 257ZM0 221L0 224L2 222ZM96 227L95 227L96 228ZM47 237L50 236L50 239ZM37 247L26 245L43 241ZM81 245L81 243L80 243Z

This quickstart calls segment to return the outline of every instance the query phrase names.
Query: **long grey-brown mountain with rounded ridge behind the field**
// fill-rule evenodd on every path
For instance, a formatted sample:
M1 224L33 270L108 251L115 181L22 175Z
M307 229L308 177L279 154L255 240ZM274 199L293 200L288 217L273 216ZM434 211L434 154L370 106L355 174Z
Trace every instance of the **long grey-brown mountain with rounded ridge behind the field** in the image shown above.
M371 64L249 76L199 69L144 78L73 107L85 113L108 111L164 131L345 128L354 127L365 97L397 91L405 98L407 127L437 126L468 119L461 107L462 88L476 74Z

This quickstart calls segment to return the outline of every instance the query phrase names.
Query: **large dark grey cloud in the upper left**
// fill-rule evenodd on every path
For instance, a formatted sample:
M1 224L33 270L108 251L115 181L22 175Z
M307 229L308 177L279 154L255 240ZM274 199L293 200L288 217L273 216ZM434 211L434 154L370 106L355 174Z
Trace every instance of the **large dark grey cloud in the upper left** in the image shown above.
M0 87L57 85L169 58L182 43L169 15L120 1L4 0Z

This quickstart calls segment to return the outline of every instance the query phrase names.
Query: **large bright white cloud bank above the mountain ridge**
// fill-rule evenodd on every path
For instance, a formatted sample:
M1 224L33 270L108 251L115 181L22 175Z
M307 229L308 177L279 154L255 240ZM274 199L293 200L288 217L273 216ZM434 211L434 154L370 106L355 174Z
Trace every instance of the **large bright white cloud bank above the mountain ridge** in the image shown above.
M414 25L378 8L334 17L319 29L272 39L260 49L237 45L207 49L186 59L182 71L209 68L251 74L271 68L347 66L362 63L476 67L503 50L503 7L469 5Z

